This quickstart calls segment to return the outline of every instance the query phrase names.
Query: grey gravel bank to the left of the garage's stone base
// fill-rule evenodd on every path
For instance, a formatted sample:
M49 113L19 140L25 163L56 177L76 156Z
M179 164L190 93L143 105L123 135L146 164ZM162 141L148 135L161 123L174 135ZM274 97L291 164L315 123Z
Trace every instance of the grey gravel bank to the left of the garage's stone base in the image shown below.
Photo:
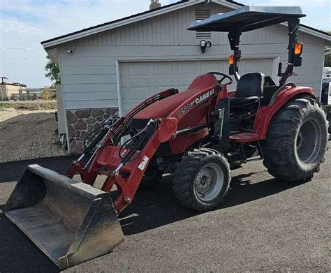
M54 110L0 111L0 163L64 156L56 129Z

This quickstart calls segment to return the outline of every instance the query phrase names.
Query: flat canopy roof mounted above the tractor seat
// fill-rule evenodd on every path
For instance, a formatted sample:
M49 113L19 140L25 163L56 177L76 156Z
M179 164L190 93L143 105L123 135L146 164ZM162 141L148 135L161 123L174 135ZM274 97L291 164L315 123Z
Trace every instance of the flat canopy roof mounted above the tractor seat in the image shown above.
M245 32L304 16L306 15L302 14L299 6L243 6L228 13L215 14L205 20L192 22L189 30Z

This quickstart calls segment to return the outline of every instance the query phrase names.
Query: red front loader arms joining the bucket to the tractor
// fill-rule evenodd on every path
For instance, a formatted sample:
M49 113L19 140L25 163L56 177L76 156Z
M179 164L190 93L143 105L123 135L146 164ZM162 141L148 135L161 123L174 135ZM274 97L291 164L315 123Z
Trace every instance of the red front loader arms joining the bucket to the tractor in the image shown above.
M150 119L146 131L139 135L131 148L117 147L116 142L127 134L126 131L130 128L135 115L156 101L177 93L177 89L162 91L128 111L104 136L92 155L91 164L87 163L83 166L80 161L74 161L68 170L68 177L73 178L78 172L84 183L93 186L97 175L105 175L107 178L102 190L109 192L114 185L117 186L118 195L114 205L117 212L122 212L133 200L142 175L161 142L170 140L177 131L177 119L170 117Z

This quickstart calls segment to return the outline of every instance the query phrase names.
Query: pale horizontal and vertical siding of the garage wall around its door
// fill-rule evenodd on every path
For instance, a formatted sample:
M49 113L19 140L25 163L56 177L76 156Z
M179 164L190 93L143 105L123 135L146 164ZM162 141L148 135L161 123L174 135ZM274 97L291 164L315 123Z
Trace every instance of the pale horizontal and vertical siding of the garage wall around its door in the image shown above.
M210 6L213 14L229 11L216 4ZM226 34L212 32L213 47L201 54L195 31L186 30L195 20L196 7L198 5L60 45L59 65L66 109L117 107L116 60L227 59L231 51ZM313 87L319 94L324 41L304 33L300 33L300 40L304 43L303 65L295 68L297 76L290 80ZM242 54L247 59L279 57L286 66L287 45L287 29L281 25L242 36ZM66 49L73 46L73 54L67 54ZM221 72L228 73L228 68Z

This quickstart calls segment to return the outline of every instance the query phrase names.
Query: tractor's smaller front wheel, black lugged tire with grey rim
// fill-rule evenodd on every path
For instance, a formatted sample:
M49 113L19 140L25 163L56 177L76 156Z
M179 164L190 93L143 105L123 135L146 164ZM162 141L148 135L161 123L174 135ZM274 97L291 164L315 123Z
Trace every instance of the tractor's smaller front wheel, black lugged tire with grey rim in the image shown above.
M179 202L197 212L207 212L223 200L230 185L230 165L213 149L194 149L175 171L174 191Z

